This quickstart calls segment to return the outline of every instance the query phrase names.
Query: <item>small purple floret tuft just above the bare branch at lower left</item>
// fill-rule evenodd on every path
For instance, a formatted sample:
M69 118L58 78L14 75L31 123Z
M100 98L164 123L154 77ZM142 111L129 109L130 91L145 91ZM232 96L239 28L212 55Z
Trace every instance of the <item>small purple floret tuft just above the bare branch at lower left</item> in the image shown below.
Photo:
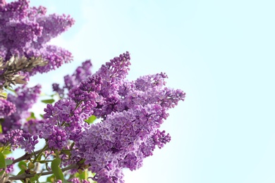
M38 143L37 138L37 135L32 136L30 133L23 133L18 139L21 149L25 149L26 153L32 153L35 150L35 144Z

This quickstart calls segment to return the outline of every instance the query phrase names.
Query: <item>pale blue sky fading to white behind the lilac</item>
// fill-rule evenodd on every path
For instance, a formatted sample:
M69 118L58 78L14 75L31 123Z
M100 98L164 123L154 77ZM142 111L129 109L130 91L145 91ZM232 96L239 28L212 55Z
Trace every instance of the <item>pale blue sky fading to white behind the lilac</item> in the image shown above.
M74 61L30 85L50 92L82 61L95 72L129 51L129 80L166 72L187 95L161 127L171 142L126 183L275 182L274 2L33 0L76 23L51 42Z

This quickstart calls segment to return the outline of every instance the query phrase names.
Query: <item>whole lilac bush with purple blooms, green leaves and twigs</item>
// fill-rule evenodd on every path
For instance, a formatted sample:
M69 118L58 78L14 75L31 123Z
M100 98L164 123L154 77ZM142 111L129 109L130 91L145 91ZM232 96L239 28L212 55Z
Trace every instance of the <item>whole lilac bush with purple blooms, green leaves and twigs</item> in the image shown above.
M124 182L123 168L141 168L144 158L171 140L159 127L185 93L166 87L163 72L127 80L128 52L94 74L90 60L85 61L64 77L63 86L52 84L53 98L44 100L44 115L36 118L30 109L41 86L27 87L26 82L72 60L69 51L47 42L74 20L47 15L46 8L30 7L27 0L2 0L0 22L1 182L38 182L44 175L48 182ZM12 92L6 94L8 89ZM42 140L44 147L35 151ZM7 158L18 148L23 156ZM13 165L20 172L13 172Z

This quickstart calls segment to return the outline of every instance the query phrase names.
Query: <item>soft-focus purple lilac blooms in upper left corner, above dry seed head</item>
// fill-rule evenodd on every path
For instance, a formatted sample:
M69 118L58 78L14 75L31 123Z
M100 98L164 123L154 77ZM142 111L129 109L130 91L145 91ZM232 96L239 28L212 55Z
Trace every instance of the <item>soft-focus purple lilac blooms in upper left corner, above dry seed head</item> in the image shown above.
M11 56L42 56L48 64L37 67L26 75L48 72L72 60L69 51L47 45L52 38L68 30L74 20L66 15L46 15L47 9L30 7L28 0L0 3L0 56L7 61Z

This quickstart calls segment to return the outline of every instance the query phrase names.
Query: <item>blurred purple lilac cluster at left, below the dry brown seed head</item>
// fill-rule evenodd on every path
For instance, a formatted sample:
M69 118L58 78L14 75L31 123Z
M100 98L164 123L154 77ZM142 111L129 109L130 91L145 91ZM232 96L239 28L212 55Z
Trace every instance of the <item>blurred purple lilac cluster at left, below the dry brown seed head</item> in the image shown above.
M36 103L40 89L41 86L39 84L35 87L23 85L22 87L16 88L16 96L8 94L7 100L16 106L16 112L4 118L4 122L1 124L4 134L11 129L21 129L25 119L30 116L28 110Z

